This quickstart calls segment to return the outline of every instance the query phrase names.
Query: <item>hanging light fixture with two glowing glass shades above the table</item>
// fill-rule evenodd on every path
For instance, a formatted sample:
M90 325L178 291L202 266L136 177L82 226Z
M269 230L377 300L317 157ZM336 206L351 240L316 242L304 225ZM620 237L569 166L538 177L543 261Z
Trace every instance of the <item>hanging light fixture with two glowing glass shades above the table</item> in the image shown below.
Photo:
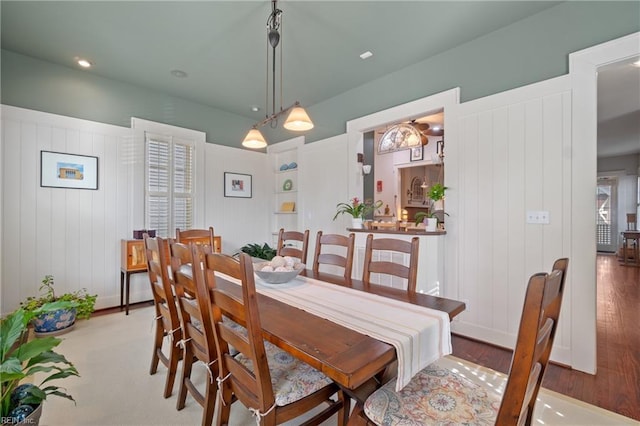
M305 130L313 129L313 122L309 118L307 112L302 108L300 102L296 101L287 108L282 108L282 47L280 48L280 111L276 112L276 48L280 44L280 32L278 31L282 21L282 10L278 9L277 0L271 0L271 14L267 18L267 44L271 46L272 50L272 85L271 85L271 115L267 115L264 120L254 124L247 136L242 141L242 145L246 148L260 149L267 146L267 141L258 130L266 124L269 124L271 128L275 128L278 125L278 118L289 112L289 116L285 120L283 127L287 130L302 132ZM269 60L268 47L267 47L267 61ZM267 99L266 103L269 104L269 69L267 66ZM268 110L268 108L265 108Z

